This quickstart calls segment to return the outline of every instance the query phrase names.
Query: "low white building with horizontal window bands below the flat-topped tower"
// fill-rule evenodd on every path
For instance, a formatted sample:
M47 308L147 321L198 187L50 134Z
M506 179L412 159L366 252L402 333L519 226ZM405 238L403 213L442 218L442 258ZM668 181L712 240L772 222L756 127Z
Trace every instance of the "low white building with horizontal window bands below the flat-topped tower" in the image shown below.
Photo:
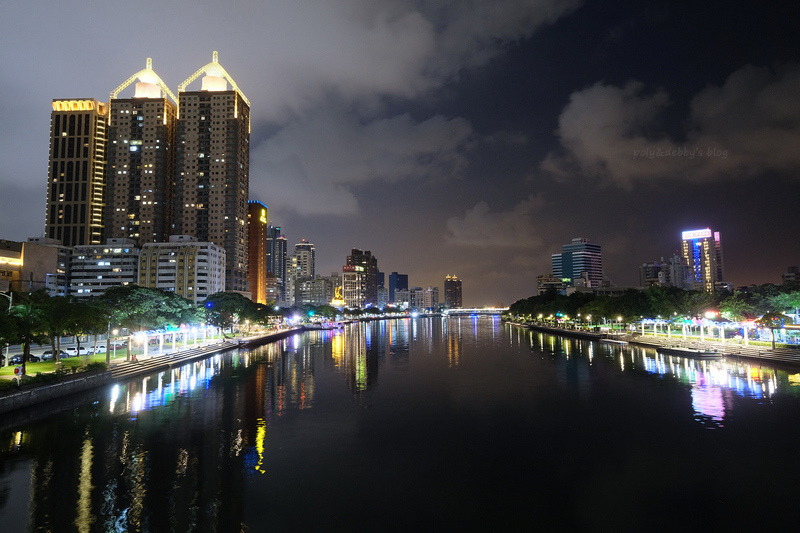
M133 285L139 270L139 248L133 239L108 239L104 245L76 246L69 267L69 294L88 299L111 287Z

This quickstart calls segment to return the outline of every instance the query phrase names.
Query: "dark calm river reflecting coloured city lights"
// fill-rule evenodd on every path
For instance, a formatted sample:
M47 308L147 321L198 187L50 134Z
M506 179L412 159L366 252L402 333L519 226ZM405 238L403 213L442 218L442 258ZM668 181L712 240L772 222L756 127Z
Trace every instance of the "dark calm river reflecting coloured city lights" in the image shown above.
M372 322L0 418L0 531L765 528L798 420L793 371Z

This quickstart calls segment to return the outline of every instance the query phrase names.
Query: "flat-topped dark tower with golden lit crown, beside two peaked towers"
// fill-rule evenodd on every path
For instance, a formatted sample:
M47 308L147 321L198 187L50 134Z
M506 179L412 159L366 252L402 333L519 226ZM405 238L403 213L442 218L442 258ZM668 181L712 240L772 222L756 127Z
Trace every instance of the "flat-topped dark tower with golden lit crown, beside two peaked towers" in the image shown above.
M100 244L108 105L53 100L45 236L64 246Z

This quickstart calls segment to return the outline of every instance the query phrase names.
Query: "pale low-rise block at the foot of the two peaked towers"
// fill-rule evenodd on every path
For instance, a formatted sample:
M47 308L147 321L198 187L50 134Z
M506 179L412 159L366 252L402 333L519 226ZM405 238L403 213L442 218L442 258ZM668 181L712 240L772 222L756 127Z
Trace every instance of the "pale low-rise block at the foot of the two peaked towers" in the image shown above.
M173 292L197 304L225 291L225 250L189 235L146 243L139 254L137 283Z

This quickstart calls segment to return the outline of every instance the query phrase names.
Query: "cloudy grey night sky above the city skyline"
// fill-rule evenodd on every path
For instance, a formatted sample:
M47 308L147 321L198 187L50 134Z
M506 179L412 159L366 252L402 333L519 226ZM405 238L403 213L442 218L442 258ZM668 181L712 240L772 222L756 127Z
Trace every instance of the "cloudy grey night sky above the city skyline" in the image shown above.
M13 2L0 238L43 234L51 100L107 101L147 57L176 92L217 50L252 104L251 198L290 249L316 245L317 273L367 249L411 285L455 274L465 305L508 305L574 237L634 286L711 227L734 286L780 283L800 264L785 4Z

